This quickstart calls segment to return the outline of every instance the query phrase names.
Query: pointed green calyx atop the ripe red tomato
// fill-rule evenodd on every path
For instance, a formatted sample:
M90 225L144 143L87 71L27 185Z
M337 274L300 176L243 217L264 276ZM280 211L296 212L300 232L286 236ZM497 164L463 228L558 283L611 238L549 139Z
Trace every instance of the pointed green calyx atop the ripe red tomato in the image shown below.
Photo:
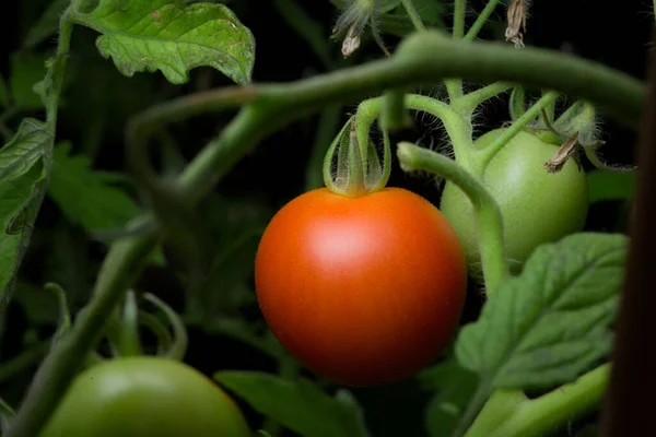
M362 197L382 190L389 180L391 147L387 132L383 131L383 162L368 135L366 143L358 141L358 137L355 117L351 117L326 153L324 184L336 194Z

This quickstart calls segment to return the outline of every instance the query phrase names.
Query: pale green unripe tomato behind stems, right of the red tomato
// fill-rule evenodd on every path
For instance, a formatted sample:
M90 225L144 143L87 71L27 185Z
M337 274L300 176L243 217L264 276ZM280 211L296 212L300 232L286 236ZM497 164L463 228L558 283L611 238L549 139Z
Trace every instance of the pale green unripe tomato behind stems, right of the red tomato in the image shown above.
M504 131L485 133L475 142L476 147L487 147ZM514 273L538 246L557 241L585 225L588 210L585 172L574 160L569 160L559 173L550 174L544 167L558 149L520 131L483 172L483 185L501 209L506 257ZM469 198L447 181L440 210L460 238L470 273L479 276L479 227Z

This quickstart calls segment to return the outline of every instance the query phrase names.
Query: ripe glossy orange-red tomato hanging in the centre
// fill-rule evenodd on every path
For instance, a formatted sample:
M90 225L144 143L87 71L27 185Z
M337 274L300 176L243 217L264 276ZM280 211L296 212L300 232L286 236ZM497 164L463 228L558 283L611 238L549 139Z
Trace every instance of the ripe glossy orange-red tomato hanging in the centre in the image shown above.
M455 231L420 196L321 188L270 222L255 280L267 323L298 362L338 383L373 386L413 375L447 345L467 273Z

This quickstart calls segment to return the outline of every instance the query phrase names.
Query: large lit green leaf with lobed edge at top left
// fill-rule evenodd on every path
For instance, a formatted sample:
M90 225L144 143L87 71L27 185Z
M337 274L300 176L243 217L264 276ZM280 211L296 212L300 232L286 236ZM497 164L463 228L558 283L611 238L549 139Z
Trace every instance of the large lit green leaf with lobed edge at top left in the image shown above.
M255 39L224 4L124 3L101 0L92 12L72 14L78 23L103 34L96 46L122 74L161 70L169 82L181 84L189 80L189 70L210 66L237 83L250 82Z

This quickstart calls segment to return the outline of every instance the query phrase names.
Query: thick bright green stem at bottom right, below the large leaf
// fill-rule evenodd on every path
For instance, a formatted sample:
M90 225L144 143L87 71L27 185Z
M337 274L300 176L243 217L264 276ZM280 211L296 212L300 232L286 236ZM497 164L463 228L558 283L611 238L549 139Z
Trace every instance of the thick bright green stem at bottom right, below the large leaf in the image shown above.
M513 398L512 403L506 406L502 403L508 398L497 397L495 393L479 417L483 417L485 412L499 417L496 413L504 411L503 420L497 421L494 428L478 426L475 422L466 437L522 437L553 433L599 405L608 386L610 367L610 363L599 366L576 381L559 387L537 399L529 400L522 394L525 400L518 402ZM507 410L511 411L509 414Z

